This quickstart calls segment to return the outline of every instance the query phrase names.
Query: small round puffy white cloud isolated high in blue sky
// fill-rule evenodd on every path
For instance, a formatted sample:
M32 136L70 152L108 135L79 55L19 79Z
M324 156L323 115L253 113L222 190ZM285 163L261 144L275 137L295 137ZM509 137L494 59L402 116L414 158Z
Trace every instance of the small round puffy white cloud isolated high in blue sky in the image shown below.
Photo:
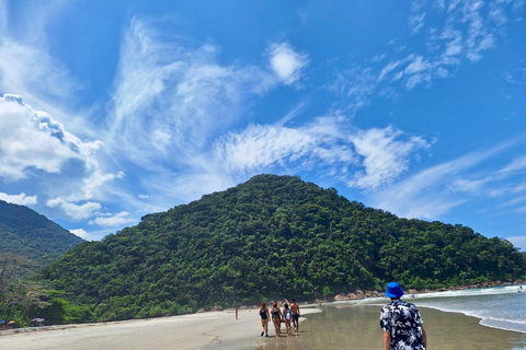
M296 52L287 43L276 43L271 45L270 62L279 80L291 84L301 78L309 59L307 55Z

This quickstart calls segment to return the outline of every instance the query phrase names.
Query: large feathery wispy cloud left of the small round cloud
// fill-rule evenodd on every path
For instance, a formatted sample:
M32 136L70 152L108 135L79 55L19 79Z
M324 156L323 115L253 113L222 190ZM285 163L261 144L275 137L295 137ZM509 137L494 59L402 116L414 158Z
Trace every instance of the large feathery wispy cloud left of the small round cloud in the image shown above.
M121 49L110 150L126 148L129 161L150 168L191 162L241 117L250 98L275 86L271 72L221 66L216 51L178 36L167 40L134 19Z

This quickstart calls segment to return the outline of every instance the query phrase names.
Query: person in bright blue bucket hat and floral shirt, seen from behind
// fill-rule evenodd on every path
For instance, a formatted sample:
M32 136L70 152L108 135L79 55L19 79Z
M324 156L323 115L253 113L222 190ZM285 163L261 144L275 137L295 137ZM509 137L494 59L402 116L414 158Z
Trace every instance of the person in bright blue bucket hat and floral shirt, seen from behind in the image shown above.
M398 282L387 284L386 296L391 302L380 311L385 350L425 350L427 336L422 316L414 304L400 300L402 295L403 290Z

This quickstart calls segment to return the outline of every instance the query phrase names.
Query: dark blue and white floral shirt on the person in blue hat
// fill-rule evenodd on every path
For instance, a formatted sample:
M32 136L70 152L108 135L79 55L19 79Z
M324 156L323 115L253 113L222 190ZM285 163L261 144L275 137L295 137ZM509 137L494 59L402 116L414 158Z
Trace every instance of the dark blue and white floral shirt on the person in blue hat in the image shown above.
M393 300L381 307L380 327L391 335L391 350L425 350L422 323L414 304Z

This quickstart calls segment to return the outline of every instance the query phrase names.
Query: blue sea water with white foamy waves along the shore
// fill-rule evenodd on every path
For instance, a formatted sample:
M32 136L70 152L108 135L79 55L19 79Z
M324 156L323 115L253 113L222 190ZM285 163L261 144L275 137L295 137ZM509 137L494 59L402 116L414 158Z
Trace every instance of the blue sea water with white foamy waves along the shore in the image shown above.
M521 289L522 288L522 289ZM480 318L483 326L526 334L526 285L404 295L405 301Z

